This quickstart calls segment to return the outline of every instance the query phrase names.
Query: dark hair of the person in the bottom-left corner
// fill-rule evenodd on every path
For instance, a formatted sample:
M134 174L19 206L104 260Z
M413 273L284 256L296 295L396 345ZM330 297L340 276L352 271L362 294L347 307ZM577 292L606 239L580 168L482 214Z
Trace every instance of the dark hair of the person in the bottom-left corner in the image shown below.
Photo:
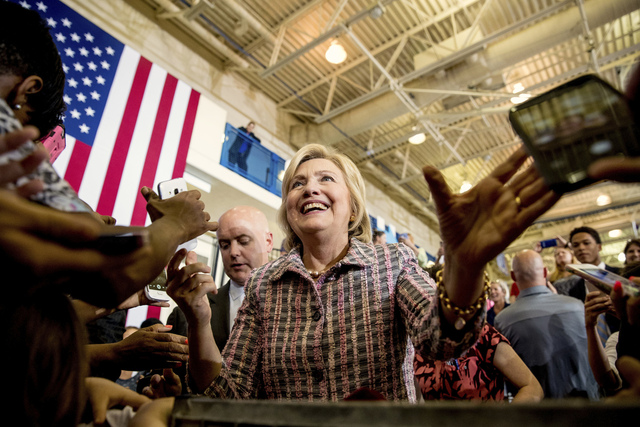
M10 387L3 405L20 425L75 426L85 404L85 330L68 297L38 290L0 305L9 344L1 352Z

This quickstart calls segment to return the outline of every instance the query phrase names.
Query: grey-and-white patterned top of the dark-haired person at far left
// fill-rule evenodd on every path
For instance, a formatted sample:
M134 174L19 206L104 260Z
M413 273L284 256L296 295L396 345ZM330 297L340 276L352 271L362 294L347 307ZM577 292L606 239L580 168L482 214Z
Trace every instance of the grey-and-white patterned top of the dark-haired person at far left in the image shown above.
M0 134L13 132L21 128L22 126L13 115L13 111L11 111L4 99L0 99ZM11 161L23 160L33 153L35 149L36 144L33 141L27 141L15 150L2 153L0 154L0 166L6 165ZM12 190L34 179L41 180L44 188L41 192L30 197L32 201L65 212L92 212L91 207L78 197L78 194L67 181L60 178L48 160L40 163L34 172L19 178L14 183L7 184L6 187Z

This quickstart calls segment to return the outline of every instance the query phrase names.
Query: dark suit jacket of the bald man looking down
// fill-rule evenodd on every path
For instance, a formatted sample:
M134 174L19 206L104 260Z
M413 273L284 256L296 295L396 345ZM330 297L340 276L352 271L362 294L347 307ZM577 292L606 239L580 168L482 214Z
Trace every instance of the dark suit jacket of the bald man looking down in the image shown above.
M230 319L229 319L229 286L227 282L224 286L218 289L218 293L215 295L207 294L209 298L209 305L211 306L211 330L213 331L213 338L216 340L216 344L220 349L220 352L224 349L229 339ZM178 334L187 336L188 323L180 307L173 309L169 318L167 319L167 325L172 325L172 334Z

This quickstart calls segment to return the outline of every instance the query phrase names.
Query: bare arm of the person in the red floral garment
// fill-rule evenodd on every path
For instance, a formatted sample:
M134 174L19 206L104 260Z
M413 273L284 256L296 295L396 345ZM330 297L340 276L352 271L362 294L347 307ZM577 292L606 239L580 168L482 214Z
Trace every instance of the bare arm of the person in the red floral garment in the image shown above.
M506 342L501 342L496 348L493 364L502 374L518 387L514 402L539 402L544 397L542 387L531 373L527 365Z

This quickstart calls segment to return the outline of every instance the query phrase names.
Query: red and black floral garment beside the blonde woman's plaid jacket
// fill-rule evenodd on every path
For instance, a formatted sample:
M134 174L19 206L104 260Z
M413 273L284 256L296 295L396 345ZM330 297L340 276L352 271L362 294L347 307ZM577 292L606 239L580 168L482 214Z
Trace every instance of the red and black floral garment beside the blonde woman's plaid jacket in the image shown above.
M425 400L503 400L504 375L493 365L498 344L509 341L486 323L480 338L458 359L414 359L415 375Z

